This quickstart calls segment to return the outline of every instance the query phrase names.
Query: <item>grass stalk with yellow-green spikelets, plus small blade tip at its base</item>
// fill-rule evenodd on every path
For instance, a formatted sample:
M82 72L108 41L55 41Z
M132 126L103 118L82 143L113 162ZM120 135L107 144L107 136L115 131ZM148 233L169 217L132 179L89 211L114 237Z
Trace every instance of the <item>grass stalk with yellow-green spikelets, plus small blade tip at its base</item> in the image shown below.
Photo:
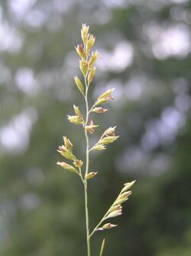
M95 129L99 126L95 124L90 115L96 113L105 113L108 110L100 107L102 103L106 103L108 100L114 100L112 93L114 88L105 91L104 94L100 95L92 107L89 107L89 86L92 84L92 80L95 76L95 61L99 57L98 51L92 51L92 46L95 43L95 37L92 34L89 34L89 26L83 24L81 29L81 37L83 40L82 44L78 44L76 52L79 55L79 69L82 73L82 77L74 77L76 87L79 89L79 92L84 98L84 103L86 106L86 113L82 113L79 110L79 107L73 105L74 114L72 116L68 115L68 120L71 123L74 123L79 126L83 126L84 136L86 139L86 159L78 159L73 153L73 143L66 136L63 136L63 145L59 146L57 151L63 156L68 162L57 162L57 165L63 167L66 171L70 171L79 176L79 179L83 182L84 186L84 201L85 201L85 213L86 213L86 246L87 246L87 256L91 256L91 238L96 231L104 231L107 229L115 228L117 225L110 222L105 222L108 218L115 218L122 214L121 204L128 200L129 195L131 195L131 187L134 185L134 182L125 183L123 189L119 193L118 197L112 203L108 212L103 215L98 225L95 225L95 228L92 231L89 231L89 197L88 197L88 185L89 180L94 178L98 172L89 172L89 154L92 151L100 151L106 149L106 145L109 143L115 142L119 136L115 135L114 127L109 127L102 133L102 136L92 146L89 146L89 134L95 133ZM83 166L85 162L85 166ZM104 223L105 222L105 223ZM101 251L99 253L102 256L103 249L105 245L105 239L102 241Z

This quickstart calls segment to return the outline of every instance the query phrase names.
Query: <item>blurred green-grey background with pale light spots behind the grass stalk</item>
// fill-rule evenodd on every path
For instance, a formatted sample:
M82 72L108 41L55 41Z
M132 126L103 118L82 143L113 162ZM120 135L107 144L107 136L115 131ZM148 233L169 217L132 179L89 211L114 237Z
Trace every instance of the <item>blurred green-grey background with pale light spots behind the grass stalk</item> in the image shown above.
M56 166L79 126L66 120L83 99L74 45L90 25L102 55L91 100L115 87L94 138L120 139L93 153L91 228L124 182L137 179L119 227L92 239L92 255L191 255L191 2L188 0L0 1L0 254L86 255L83 186ZM96 86L95 86L96 85Z

